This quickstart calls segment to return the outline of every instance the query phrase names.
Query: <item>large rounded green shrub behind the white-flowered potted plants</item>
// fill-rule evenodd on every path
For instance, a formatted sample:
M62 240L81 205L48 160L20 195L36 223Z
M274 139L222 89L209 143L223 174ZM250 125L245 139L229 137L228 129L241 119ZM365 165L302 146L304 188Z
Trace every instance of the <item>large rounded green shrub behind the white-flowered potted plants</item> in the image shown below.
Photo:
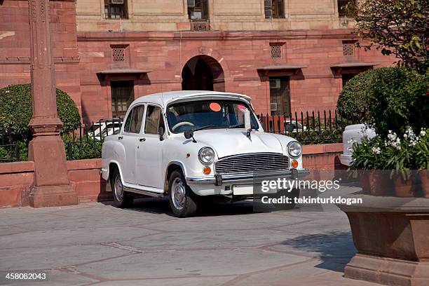
M339 95L337 108L348 119L375 124L377 134L404 134L428 126L428 76L404 67L372 69L350 79Z

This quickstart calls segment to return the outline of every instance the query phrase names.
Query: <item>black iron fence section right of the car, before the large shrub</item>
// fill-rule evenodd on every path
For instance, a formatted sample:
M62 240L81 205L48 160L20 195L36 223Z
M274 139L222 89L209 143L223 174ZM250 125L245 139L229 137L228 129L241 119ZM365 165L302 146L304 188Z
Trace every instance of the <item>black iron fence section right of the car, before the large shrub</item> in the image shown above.
M360 123L360 118L338 111L301 111L294 114L264 115L259 121L266 132L296 138L301 144L339 143L347 125Z

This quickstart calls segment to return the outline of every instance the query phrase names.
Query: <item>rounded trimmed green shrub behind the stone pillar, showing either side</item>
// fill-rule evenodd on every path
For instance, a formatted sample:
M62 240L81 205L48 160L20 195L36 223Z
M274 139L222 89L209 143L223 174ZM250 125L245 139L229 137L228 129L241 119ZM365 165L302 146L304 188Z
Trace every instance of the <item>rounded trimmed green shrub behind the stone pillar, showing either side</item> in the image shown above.
M79 127L81 116L73 100L57 89L57 112L63 125L62 134ZM8 86L0 89L0 135L10 134L11 141L29 142L32 132L28 124L32 118L32 90L30 84Z

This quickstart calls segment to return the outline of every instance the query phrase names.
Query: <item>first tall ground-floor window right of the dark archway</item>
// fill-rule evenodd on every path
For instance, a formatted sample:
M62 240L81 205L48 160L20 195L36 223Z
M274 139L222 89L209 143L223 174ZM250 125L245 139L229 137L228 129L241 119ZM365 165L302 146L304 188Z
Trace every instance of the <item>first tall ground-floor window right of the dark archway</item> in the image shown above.
M289 77L270 77L271 115L290 115Z

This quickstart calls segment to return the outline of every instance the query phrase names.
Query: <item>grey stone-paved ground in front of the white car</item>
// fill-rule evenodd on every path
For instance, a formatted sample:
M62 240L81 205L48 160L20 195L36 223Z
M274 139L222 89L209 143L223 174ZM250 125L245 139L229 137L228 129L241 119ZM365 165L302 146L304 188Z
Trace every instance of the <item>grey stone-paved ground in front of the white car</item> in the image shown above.
M128 210L0 210L0 272L49 273L11 285L373 285L342 277L354 253L335 207L254 213L247 202L219 203L186 219L151 198Z

